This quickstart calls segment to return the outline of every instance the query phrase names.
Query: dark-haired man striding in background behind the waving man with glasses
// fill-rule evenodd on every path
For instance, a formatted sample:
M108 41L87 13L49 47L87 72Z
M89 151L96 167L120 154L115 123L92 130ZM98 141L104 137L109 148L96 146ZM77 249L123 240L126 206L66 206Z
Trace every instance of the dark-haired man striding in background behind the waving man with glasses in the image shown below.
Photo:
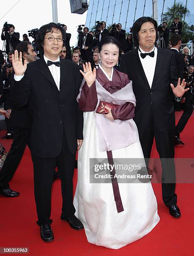
M22 52L23 62L26 60L27 63L30 63L36 60L37 55L30 42L22 41L17 45L16 49L18 52ZM13 77L14 74L12 73L10 76L10 104L12 105L10 123L14 128L13 143L0 172L0 193L6 197L17 197L20 195L19 192L10 189L9 182L20 164L25 147L29 142L32 126L32 118L28 106L25 105L17 108L14 105Z

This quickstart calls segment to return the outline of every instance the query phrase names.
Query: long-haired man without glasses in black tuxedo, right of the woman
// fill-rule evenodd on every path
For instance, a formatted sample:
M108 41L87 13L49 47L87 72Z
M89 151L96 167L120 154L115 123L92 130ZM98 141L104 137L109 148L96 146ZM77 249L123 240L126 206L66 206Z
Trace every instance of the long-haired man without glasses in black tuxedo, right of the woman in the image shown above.
M175 194L175 115L172 94L181 97L187 91L184 90L186 83L183 80L180 84L179 79L177 84L174 53L155 46L158 33L154 19L141 17L136 20L133 38L137 49L122 55L120 71L128 74L132 80L136 98L134 121L144 158L150 158L155 137L162 164L162 198L169 213L179 218L181 213ZM177 84L177 87L173 84ZM146 162L148 166L149 161Z

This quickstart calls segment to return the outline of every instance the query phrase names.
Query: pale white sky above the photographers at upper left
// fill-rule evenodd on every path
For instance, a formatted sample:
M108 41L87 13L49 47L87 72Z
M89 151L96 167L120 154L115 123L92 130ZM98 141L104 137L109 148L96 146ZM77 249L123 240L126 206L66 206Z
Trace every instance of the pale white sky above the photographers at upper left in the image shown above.
M42 25L52 22L52 0L20 0L17 2L18 0L0 0L0 33L3 24L7 21L7 23L15 26L15 32L20 33L20 40L22 41L22 35L24 33L28 35L28 30L40 28ZM14 7L12 8L12 6ZM7 13L8 10L10 11ZM67 33L72 34L70 46L75 46L77 43L77 26L85 24L87 11L84 14L71 13L69 0L57 0L57 12L58 22L67 25ZM5 15L5 13L7 14ZM32 42L32 37L29 37L29 40ZM3 41L0 39L1 50L2 46Z

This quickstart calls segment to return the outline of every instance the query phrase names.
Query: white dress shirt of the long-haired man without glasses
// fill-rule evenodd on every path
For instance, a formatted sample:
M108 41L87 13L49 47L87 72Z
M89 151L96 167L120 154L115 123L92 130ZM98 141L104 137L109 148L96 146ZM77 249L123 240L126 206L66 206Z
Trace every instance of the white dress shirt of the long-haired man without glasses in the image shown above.
M143 51L140 47L139 49L142 53L147 53L146 51ZM139 59L142 63L142 67L144 69L145 75L147 77L147 81L149 83L149 87L151 88L152 82L154 79L158 49L157 47L154 46L153 49L151 50L151 51L154 51L154 57L150 57L149 55L147 55L144 59L140 56L141 52L139 51L139 49L138 49Z

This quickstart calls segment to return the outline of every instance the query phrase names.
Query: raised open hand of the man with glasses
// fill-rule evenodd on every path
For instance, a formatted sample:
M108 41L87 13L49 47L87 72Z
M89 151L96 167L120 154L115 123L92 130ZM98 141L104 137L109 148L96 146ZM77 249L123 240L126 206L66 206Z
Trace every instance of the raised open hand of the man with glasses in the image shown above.
M18 57L18 51L15 50L14 54L12 54L12 66L16 76L22 76L27 69L26 59L24 60L24 64L22 63L22 52L20 51L20 57Z

